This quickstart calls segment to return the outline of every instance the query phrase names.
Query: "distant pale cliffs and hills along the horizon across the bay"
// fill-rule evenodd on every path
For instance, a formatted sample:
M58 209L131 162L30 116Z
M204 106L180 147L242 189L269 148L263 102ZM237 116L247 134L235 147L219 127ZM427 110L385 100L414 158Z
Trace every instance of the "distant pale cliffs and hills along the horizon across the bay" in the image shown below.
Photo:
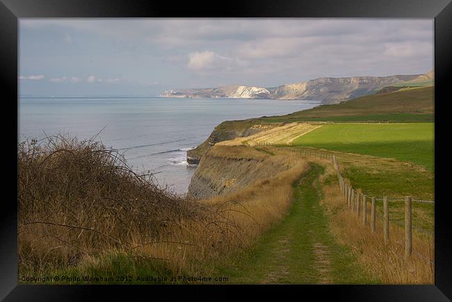
M363 95L377 93L386 86L403 86L415 82L424 86L433 81L433 71L427 74L392 75L388 77L322 77L273 88L229 85L218 88L172 89L161 94L164 97L231 97L273 100L319 100L324 104L337 104Z

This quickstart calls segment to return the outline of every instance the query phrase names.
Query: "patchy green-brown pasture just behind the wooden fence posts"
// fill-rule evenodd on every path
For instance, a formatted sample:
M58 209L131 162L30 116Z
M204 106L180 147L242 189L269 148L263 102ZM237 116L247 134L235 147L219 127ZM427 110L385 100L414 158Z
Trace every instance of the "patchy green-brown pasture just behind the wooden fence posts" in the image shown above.
M307 150L307 160L325 165L325 158L319 159L309 155L309 152L316 150L312 148L291 148L299 150L296 156L303 157L304 150ZM434 174L433 172L410 163L397 161L396 159L385 159L381 157L370 157L368 155L350 154L334 152L339 162L342 175L346 178L347 184L351 184L354 189L359 189L363 194L376 198L387 196L389 199L399 199L389 201L389 217L394 225L403 225L405 207L403 200L405 196L412 196L413 199L433 200L434 199ZM330 164L330 159L328 159ZM402 201L400 201L402 199ZM369 201L370 202L370 201ZM376 201L378 212L382 214L382 201ZM412 223L414 228L422 228L426 232L433 232L434 228L434 208L433 203L413 202ZM415 229L413 232L421 232Z

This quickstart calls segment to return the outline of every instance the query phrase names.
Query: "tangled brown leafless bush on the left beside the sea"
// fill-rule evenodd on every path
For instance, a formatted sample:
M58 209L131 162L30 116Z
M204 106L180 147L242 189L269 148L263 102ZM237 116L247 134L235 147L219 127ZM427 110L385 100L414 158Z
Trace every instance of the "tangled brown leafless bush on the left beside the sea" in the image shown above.
M138 175L94 138L63 135L18 145L19 267L65 267L83 255L162 238L180 221L212 218L206 205ZM171 228L168 228L171 225Z

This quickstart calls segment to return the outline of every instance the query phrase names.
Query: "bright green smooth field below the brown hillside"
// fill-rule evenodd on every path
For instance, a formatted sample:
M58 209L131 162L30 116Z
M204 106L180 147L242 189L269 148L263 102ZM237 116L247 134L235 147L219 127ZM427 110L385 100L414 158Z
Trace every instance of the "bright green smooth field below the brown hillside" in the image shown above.
M410 161L433 170L434 124L330 124L293 145Z

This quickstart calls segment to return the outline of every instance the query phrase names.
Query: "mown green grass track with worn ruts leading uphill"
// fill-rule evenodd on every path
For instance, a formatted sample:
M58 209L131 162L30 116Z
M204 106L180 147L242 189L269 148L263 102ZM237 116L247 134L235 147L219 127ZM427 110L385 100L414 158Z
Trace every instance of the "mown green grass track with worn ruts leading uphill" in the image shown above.
M223 271L232 283L377 283L366 276L346 246L329 232L319 204L318 176L312 168L294 184L293 204L283 221L261 238L250 256Z

